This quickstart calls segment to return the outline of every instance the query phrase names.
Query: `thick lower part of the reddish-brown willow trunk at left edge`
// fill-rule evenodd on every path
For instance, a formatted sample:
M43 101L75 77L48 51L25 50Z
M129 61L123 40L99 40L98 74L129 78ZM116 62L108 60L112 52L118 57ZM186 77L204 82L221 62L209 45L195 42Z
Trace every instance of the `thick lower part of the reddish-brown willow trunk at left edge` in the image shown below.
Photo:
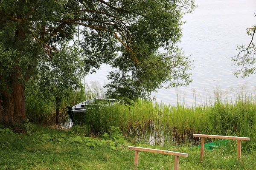
M8 126L26 119L25 88L19 68L15 69L12 82L11 92L0 91L0 124Z

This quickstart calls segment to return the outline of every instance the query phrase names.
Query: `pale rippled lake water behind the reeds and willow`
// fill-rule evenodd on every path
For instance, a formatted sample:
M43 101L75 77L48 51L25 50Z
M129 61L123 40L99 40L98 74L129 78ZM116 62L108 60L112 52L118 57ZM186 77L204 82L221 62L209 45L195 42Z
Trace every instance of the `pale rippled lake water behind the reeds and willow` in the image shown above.
M232 72L230 57L236 56L236 46L248 44L246 28L256 24L256 0L195 0L198 8L193 14L186 14L180 47L191 60L193 82L187 87L160 89L157 102L175 105L177 100L185 105L205 104L213 101L215 91L221 91L230 100L236 92L249 91L254 96L256 76L236 78ZM95 74L85 77L85 82L103 87L108 82L111 67L102 65Z

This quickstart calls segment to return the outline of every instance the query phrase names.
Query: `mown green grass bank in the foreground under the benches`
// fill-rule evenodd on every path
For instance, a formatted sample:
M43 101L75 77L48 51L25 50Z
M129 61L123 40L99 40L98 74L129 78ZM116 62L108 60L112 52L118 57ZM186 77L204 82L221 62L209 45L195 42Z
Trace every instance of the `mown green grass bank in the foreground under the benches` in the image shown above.
M18 133L0 129L1 170L133 170L134 145L123 139L117 127L100 138L84 136L84 129L74 127L70 131L29 125L30 133ZM115 136L115 138L114 138ZM200 150L186 146L136 146L188 153L180 157L180 170L255 170L256 151L243 151L238 161L233 147L205 151L200 162ZM138 170L172 170L174 156L140 152Z

